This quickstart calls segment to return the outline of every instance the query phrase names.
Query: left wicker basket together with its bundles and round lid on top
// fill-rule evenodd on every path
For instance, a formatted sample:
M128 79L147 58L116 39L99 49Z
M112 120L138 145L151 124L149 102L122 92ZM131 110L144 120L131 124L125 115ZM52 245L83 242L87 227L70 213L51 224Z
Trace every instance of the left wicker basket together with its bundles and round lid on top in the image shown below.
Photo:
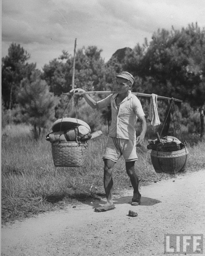
M87 141L102 135L101 131L90 133L89 125L75 118L58 119L52 130L46 135L46 140L51 142L56 167L83 166L88 149Z

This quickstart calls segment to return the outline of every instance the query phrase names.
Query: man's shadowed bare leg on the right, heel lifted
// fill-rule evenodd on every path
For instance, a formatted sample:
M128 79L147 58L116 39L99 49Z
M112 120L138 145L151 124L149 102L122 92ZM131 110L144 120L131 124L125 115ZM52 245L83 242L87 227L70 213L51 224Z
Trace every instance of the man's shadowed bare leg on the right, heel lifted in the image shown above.
M138 178L137 174L135 173L135 169L134 169L135 161L126 162L125 164L126 164L127 175L129 176L130 181L133 186L133 189L134 189L131 205L139 205L140 199L141 199L141 194L138 190L139 178Z

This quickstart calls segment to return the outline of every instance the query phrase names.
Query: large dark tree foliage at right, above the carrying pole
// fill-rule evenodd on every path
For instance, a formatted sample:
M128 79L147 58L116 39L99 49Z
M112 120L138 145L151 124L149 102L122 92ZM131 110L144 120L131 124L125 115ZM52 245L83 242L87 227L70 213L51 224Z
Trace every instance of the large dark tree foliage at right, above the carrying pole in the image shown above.
M205 99L204 61L205 30L196 23L181 30L159 29L149 44L145 40L142 47L138 44L133 53L127 53L123 68L135 74L137 82L141 78L141 92L180 98L199 106Z

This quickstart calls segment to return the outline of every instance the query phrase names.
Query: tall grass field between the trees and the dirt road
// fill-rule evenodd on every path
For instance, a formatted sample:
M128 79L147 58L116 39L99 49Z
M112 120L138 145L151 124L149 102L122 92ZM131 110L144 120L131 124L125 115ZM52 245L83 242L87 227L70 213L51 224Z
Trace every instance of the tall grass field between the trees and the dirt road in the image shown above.
M45 138L34 141L30 130L29 126L12 125L2 131L2 223L63 209L68 203L104 196L102 153L106 135L89 142L83 167L55 167L51 143ZM196 142L195 137L190 137L189 143L188 139L189 154L185 172L205 168L205 142ZM150 152L146 146L137 148L135 169L140 185L158 180ZM157 175L159 179L166 179L184 173ZM113 181L114 193L125 188L131 189L121 158L114 167Z

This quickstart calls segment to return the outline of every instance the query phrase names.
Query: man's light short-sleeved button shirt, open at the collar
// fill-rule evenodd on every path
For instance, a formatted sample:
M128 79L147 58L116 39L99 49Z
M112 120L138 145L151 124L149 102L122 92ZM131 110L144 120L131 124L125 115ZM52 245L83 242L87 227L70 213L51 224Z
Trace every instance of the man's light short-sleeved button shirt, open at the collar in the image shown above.
M97 102L99 109L111 106L112 122L109 136L119 139L136 140L135 124L137 118L144 116L142 105L139 99L129 90L128 96L123 99L118 111L115 102L117 95L117 93L111 94Z

